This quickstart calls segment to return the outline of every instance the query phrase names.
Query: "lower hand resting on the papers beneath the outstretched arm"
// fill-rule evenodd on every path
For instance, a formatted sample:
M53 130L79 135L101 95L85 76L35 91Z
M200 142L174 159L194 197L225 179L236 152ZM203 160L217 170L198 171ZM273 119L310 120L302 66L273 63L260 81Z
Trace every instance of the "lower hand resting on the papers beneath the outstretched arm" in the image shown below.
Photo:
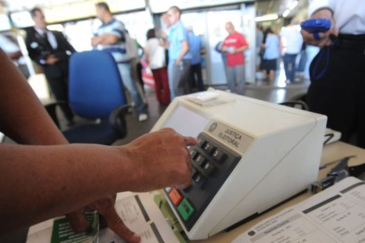
M104 198L91 203L89 206L67 214L67 220L70 222L74 232L83 233L87 231L90 224L88 220L86 220L85 215L83 215L83 212L86 210L97 210L99 214L103 216L100 219L100 225L106 224L112 231L114 231L114 233L129 243L140 242L140 236L130 231L129 228L125 226L122 219L120 219L119 215L117 215L117 211L114 207L115 197L115 194L105 196Z

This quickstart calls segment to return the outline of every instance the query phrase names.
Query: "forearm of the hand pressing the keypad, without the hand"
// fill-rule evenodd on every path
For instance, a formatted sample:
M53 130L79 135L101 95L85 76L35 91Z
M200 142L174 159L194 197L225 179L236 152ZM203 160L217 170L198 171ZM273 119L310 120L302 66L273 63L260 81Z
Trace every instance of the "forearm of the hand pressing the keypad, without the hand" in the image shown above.
M84 144L0 145L0 235L133 189L137 183L126 151Z

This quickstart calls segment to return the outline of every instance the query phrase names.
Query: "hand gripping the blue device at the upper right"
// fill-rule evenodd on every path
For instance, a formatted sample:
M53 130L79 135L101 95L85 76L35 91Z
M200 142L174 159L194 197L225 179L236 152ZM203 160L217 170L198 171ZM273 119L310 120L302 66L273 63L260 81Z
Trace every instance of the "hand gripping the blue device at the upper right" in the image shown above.
M326 31L325 33L318 33L318 37L320 38L319 40L316 40L316 38L314 37L313 33L309 33L305 30L300 31L300 33L302 33L303 36L303 40L307 43L307 44L311 44L317 47L327 47L330 44L332 44L332 40L331 40L331 35L339 35L339 30L335 28L334 26L334 19L332 17L332 12L328 9L323 9L323 10L319 10L317 12L315 12L313 15L311 15L311 19L316 19L316 18L327 18L331 20L331 28L329 31Z

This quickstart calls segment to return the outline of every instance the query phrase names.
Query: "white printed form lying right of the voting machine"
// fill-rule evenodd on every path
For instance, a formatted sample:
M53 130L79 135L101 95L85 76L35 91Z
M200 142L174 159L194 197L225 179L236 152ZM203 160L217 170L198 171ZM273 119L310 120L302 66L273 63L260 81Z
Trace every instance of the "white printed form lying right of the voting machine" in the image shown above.
M365 183L346 178L262 221L233 242L365 242Z

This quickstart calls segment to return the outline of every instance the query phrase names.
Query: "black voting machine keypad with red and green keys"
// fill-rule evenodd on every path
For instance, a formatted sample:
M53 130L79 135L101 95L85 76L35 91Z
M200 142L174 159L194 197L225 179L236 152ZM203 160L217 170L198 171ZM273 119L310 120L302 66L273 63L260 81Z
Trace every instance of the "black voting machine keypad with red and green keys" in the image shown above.
M188 231L193 228L206 206L241 160L241 156L219 142L213 142L211 137L204 133L200 133L198 139L197 145L189 149L193 164L193 185L183 190L165 189L168 199Z

